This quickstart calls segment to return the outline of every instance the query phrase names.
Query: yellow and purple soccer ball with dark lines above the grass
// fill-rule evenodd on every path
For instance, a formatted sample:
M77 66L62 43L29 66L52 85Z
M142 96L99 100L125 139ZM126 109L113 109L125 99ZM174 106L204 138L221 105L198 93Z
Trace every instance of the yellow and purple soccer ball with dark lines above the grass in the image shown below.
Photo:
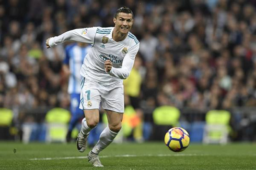
M165 145L173 152L188 148L189 141L189 133L181 127L173 127L165 134Z

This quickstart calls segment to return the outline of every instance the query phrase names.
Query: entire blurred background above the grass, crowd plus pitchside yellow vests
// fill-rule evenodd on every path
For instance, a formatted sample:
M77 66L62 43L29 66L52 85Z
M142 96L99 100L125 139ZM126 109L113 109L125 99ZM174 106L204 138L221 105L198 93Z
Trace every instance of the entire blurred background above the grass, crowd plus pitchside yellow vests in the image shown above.
M255 142L255 0L0 0L0 140L66 142L70 43L46 49L45 40L113 27L121 6L134 12L140 49L115 141L164 141L180 126L191 142ZM106 126L101 115L91 145Z

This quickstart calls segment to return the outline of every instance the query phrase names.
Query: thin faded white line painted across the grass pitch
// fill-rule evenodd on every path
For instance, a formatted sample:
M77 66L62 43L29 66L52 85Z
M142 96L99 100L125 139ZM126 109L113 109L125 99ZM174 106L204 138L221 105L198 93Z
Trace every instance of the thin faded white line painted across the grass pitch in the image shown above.
M100 158L111 158L111 157L139 157L139 156L206 156L207 154L123 154L123 155L102 155ZM30 161L48 161L48 160L70 160L70 159L85 159L87 156L73 156L73 157L59 157L59 158L33 158Z

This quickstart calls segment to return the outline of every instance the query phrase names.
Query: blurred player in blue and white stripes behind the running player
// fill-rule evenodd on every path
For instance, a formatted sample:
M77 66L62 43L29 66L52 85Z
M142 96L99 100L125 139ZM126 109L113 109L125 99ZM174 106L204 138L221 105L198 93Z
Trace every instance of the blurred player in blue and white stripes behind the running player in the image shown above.
M90 48L91 45L86 43L74 43L65 48L65 59L63 61L62 70L66 77L69 76L67 92L71 98L70 111L72 114L66 135L67 142L71 141L71 132L78 120L84 117L83 110L79 109L81 92L80 82L82 80L80 68L82 67L84 58Z

